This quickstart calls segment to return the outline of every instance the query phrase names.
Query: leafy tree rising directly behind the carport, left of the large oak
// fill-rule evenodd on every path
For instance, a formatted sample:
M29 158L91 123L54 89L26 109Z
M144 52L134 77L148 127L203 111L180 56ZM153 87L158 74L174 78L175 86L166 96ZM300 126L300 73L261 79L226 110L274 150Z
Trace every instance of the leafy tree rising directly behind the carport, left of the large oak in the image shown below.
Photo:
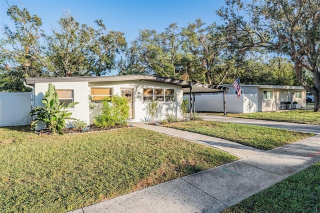
M191 79L209 84L221 84L238 66L237 52L228 42L227 31L215 23L205 27L201 19L182 29L183 50L187 55Z

